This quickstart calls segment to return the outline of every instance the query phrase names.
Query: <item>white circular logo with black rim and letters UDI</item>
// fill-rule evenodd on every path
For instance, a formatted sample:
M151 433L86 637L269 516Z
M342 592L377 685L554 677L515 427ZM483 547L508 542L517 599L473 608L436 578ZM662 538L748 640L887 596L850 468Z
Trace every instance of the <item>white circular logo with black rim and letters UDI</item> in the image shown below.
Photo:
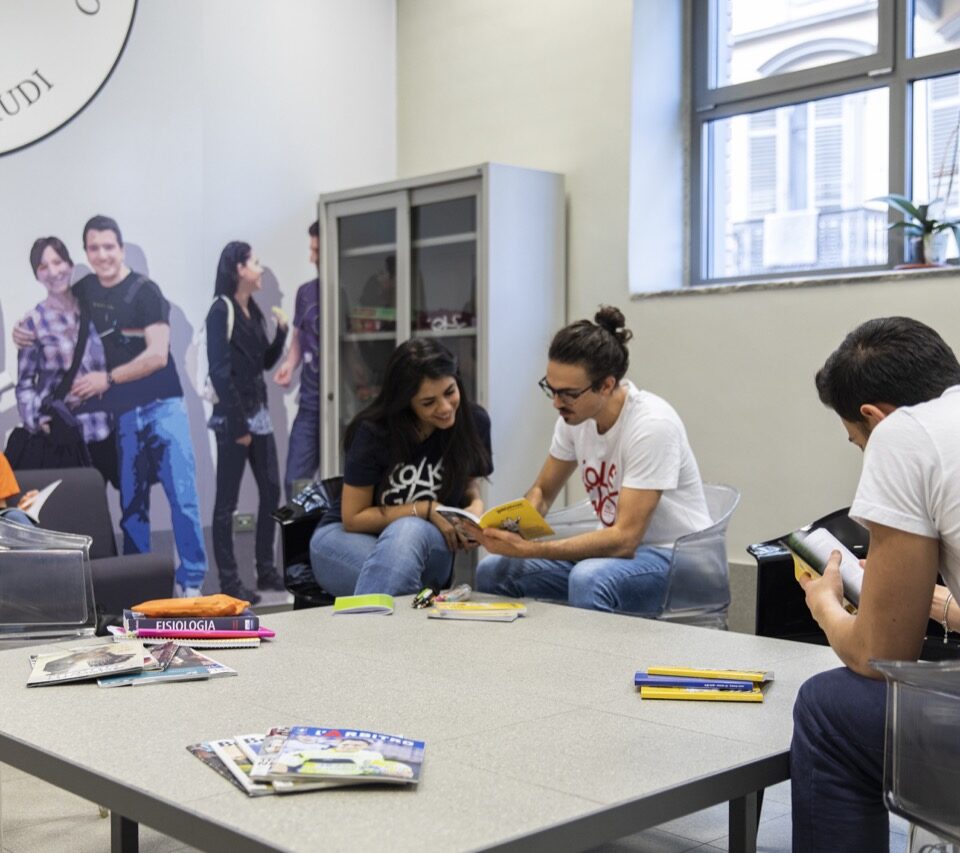
M59 130L107 82L137 0L3 0L0 155Z

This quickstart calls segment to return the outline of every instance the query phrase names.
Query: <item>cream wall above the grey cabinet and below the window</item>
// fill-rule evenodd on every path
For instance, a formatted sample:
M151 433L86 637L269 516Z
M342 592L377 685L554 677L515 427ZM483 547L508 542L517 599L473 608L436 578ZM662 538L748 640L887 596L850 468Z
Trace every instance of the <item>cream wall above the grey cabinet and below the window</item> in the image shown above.
M656 24L658 4L666 26ZM648 21L638 28L639 49L659 52L662 39L675 37L679 4L638 5ZM860 457L818 402L816 369L853 326L885 314L931 323L960 348L960 279L905 275L630 301L632 7L631 0L401 0L399 169L408 175L495 159L566 173L568 317L592 316L601 302L624 310L635 333L630 377L676 406L704 478L743 491L729 545L746 561L747 544L852 498ZM659 85L646 80L651 90ZM641 87L640 108L657 96ZM682 126L682 117L650 122L648 148L682 148ZM665 187L675 180L671 171ZM656 233L664 225L652 208L634 227ZM675 235L664 235L664 251L676 251L674 244ZM533 390L530 402L538 404Z

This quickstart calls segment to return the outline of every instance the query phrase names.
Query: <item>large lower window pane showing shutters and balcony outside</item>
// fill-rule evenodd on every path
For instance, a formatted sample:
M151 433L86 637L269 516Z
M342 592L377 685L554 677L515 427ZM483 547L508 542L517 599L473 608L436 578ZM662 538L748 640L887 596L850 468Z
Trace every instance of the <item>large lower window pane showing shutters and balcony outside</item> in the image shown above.
M887 262L886 89L712 122L708 278Z

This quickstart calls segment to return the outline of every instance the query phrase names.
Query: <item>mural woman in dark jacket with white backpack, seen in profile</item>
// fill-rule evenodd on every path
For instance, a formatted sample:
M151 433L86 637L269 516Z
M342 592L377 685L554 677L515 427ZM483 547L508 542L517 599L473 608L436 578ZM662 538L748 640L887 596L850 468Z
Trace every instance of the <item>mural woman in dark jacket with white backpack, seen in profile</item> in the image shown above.
M256 604L237 574L233 553L233 513L247 462L259 492L256 533L257 589L282 590L273 556L274 521L280 503L277 444L267 411L263 379L283 354L287 322L277 315L277 332L267 339L267 323L253 299L262 287L263 267L248 243L228 243L220 254L214 302L207 314L207 358L217 401L208 426L217 436L217 496L213 507L213 555L220 589Z

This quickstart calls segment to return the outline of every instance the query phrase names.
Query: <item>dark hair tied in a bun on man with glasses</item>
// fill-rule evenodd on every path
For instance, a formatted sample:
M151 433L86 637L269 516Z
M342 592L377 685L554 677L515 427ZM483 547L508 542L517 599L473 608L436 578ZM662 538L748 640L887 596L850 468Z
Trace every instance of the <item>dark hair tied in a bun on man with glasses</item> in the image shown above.
M601 305L593 319L593 323L578 320L557 332L547 357L561 364L582 365L594 384L608 376L619 382L630 366L627 342L633 333L625 327L623 314L612 305Z

